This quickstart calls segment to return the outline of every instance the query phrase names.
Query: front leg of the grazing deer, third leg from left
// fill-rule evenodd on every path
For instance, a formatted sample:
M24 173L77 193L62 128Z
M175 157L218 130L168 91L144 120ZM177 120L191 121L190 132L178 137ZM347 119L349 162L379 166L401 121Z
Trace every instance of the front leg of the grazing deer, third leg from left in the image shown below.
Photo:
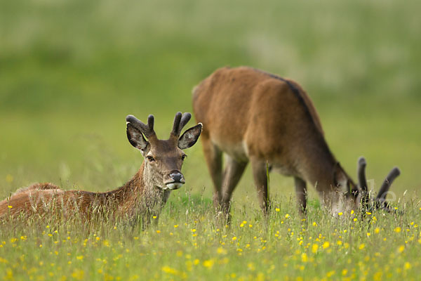
M251 159L251 168L253 170L253 178L256 189L258 191L258 199L263 214L269 211L269 192L267 191L267 164L258 159Z

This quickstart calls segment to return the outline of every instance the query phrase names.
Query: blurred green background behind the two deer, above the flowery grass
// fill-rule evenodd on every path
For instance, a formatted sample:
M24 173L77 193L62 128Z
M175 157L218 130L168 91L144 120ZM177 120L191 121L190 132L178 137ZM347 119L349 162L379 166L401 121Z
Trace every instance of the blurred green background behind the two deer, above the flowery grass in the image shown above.
M142 162L126 115L154 114L164 138L201 79L250 65L304 87L349 174L365 155L377 189L397 165L393 190L410 200L421 188L420 10L411 0L0 1L1 198L37 181L121 185ZM185 190L210 198L200 143L186 152ZM240 185L234 199L255 201L250 171ZM293 192L291 178L272 174L271 185Z

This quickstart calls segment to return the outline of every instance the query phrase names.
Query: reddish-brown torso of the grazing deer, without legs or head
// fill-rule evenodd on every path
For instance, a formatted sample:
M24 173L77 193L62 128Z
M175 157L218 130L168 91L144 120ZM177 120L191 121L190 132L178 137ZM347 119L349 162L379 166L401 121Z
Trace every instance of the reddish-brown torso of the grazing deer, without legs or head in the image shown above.
M258 157L303 174L313 159L335 159L323 136L319 115L295 81L250 67L223 67L196 86L194 115L203 138L244 160Z

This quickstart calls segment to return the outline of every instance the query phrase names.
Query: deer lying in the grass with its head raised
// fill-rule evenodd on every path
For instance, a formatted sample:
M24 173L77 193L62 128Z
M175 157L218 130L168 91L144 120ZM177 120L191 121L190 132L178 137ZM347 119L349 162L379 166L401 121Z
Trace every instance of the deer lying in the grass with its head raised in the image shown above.
M113 218L127 219L132 224L136 218L143 218L143 223L149 223L150 216L159 216L171 190L185 183L180 171L186 157L182 150L196 143L202 129L202 124L197 124L180 137L182 128L191 117L189 113L182 115L178 112L170 138L163 141L156 137L153 115L149 115L147 124L128 115L128 141L145 157L130 181L116 190L98 193L61 190L51 183L36 183L1 201L0 218L22 214L46 217L60 211L65 218L79 214L81 218L90 220L95 214L108 213Z

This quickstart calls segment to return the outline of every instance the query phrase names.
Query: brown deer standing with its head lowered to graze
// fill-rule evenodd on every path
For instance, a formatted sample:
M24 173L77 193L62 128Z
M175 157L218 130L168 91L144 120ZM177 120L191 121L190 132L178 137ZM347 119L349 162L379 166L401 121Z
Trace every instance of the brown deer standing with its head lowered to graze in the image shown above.
M267 168L293 176L298 205L305 212L306 182L333 214L368 203L360 161L357 186L328 148L316 109L307 93L290 79L250 67L223 67L193 90L193 109L204 126L201 142L213 180L213 202L229 213L232 192L251 163L260 207L267 213ZM222 152L226 154L222 173ZM384 201L395 168L376 202ZM380 204L380 203L379 203ZM380 205L379 205L380 206Z

